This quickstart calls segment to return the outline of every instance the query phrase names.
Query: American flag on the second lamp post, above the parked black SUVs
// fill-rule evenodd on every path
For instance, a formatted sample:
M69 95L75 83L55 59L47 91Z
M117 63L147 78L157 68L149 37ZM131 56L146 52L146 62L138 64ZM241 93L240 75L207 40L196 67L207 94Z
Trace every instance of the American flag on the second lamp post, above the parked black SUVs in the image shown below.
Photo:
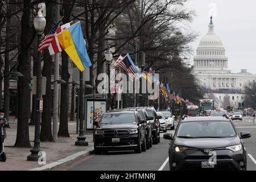
M131 63L131 57L129 54L127 54L121 61L118 63L118 67L123 68L129 75L130 80L134 81L135 78L138 77L137 68L135 68L135 65Z

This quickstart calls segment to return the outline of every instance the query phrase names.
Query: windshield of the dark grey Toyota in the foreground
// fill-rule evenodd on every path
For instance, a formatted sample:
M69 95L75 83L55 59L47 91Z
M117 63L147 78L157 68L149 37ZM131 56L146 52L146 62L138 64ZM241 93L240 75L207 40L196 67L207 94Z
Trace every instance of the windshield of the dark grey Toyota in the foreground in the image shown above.
M228 138L236 136L228 121L192 121L180 123L177 137L180 138Z

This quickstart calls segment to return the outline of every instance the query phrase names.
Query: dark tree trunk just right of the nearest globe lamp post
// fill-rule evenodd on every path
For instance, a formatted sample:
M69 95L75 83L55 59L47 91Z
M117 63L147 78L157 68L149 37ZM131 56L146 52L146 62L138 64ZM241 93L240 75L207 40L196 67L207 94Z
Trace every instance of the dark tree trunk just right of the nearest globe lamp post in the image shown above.
M46 28L44 34L47 34L52 28L53 19L53 3L46 3ZM46 94L43 96L43 113L42 113L42 125L40 132L40 140L42 142L54 142L52 137L52 57L48 51L44 51L44 67L42 75L46 77Z

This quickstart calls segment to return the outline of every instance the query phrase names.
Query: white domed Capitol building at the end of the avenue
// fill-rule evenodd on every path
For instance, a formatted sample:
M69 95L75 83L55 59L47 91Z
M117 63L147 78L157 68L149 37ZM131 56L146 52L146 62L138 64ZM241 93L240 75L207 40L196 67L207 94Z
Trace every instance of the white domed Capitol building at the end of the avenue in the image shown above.
M199 43L193 58L193 72L205 90L205 98L214 99L215 106L223 107L223 98L229 97L230 105L238 107L243 102L244 86L256 80L256 75L241 69L232 73L228 69L228 57L221 39L214 33L212 17L209 31Z

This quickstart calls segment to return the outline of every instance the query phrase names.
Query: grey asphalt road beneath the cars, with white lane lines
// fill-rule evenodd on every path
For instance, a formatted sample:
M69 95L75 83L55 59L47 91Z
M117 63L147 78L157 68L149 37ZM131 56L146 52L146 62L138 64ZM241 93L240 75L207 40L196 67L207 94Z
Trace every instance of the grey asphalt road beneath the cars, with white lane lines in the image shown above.
M251 138L244 139L247 150L247 169L256 171L256 124L250 118L244 118L242 122L234 121L237 130L250 131ZM168 130L168 133L174 133ZM161 133L159 144L153 145L150 150L135 154L134 152L109 152L102 155L89 155L85 158L69 164L59 170L108 170L108 171L157 171L169 170L168 164L168 140L164 140Z

